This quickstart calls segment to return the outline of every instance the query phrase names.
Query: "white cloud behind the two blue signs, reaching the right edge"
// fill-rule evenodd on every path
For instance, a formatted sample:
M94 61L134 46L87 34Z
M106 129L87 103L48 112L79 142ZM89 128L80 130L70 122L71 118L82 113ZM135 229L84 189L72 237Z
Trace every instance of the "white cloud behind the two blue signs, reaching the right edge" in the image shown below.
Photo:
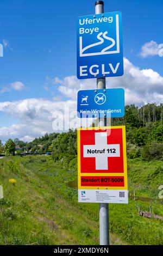
M78 80L76 76L63 80L54 78L58 90L64 96L74 100L80 89L95 89L96 79ZM126 104L142 105L150 102L161 103L163 94L163 77L152 69L140 69L124 58L124 75L106 78L106 88L124 88ZM155 95L160 95L156 97Z

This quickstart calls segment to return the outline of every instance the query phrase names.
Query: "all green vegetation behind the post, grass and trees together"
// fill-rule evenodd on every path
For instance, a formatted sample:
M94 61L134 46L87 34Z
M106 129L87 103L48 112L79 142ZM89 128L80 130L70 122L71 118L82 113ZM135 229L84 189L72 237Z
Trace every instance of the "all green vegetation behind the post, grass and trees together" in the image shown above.
M148 211L152 205L153 213L163 216L158 198L163 180L162 117L162 104L147 104L126 106L124 118L112 119L111 125L126 125L129 194L135 191L136 201L130 196L129 205L110 204L110 231L132 245L163 243L161 222L138 214L139 207ZM77 131L18 143L27 151L52 151L52 157L1 160L0 184L6 198L0 200L0 244L97 245L98 205L77 203ZM17 180L16 186L9 184L10 178Z

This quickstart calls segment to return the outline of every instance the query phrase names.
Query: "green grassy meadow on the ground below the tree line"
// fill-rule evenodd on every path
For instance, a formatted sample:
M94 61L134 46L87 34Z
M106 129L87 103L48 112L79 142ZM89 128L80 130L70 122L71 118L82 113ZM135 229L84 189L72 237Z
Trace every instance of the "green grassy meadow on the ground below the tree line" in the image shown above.
M163 216L158 187L161 161L129 160L129 191L139 199L110 204L110 241L123 245L163 244L162 222L138 215L138 208ZM10 184L9 179L16 179ZM1 245L98 245L98 204L79 204L77 172L48 156L4 157L0 160Z

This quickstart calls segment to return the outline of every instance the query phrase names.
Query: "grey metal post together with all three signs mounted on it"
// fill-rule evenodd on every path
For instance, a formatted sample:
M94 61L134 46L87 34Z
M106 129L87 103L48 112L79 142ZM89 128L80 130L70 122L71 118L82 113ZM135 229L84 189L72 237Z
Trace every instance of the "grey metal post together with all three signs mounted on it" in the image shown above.
M107 113L124 115L124 90L106 89L105 78L123 72L122 14L96 1L95 14L77 18L77 77L97 79L97 89L78 92L78 117L98 120L78 129L78 202L99 204L100 245L109 245L109 204L128 203L125 127L106 126Z

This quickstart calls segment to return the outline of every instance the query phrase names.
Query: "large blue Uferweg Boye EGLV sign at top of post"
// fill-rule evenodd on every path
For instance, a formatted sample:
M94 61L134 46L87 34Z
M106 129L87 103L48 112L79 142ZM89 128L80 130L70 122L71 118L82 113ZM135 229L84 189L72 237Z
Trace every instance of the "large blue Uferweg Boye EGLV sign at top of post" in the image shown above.
M77 77L123 75L120 11L77 18Z

